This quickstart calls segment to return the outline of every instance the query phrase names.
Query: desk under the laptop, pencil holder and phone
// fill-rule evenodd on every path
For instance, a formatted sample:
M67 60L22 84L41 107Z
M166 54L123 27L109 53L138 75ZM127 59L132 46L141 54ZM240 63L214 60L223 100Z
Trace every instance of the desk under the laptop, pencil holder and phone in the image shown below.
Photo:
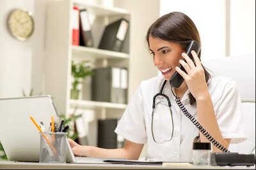
M142 166L124 164L42 164L0 161L0 169L255 169L255 166Z

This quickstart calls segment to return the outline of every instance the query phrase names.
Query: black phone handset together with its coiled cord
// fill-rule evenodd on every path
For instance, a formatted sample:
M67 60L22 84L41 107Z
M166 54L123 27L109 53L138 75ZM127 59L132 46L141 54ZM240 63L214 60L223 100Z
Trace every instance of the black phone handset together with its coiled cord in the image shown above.
M189 43L189 45L186 47L186 52L187 52L188 56L194 61L193 56L191 55L191 51L194 50L198 55L198 53L200 52L200 49L201 48L200 48L199 43L197 43L196 41L191 41ZM181 65L179 67L180 67L180 69L185 71L184 67L182 67ZM180 87L180 85L182 84L183 81L184 81L184 78L176 71L173 74L172 78L170 78L170 85L172 87L178 88L178 87ZM173 96L175 96L173 90L172 90L172 94L173 94ZM175 101L178 104L180 110L184 113L184 115L186 117L189 118L189 120L191 120L191 122L199 129L199 131L202 132L202 134L204 134L204 136L212 143L212 145L216 146L222 152L229 152L227 150L227 148L225 148L225 146L218 143L218 141L216 141L214 138L212 138L212 136L207 131L205 131L204 127L202 127L202 125L200 125L200 123L195 119L195 117L193 117L188 112L188 110L186 110L184 105L181 103L180 98L177 96L175 96L175 98L176 98Z

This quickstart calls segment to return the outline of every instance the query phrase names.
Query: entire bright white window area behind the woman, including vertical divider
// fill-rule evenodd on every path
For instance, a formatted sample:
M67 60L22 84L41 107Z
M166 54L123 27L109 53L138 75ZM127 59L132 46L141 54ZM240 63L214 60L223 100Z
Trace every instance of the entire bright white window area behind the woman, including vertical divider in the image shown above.
M161 0L160 14L172 11L195 22L202 60L255 53L255 0Z

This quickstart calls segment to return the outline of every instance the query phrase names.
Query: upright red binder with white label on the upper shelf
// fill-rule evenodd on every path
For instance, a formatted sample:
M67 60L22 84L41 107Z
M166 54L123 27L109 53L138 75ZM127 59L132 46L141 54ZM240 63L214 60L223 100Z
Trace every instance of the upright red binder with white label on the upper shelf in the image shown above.
M72 11L72 45L79 45L79 9L73 7Z

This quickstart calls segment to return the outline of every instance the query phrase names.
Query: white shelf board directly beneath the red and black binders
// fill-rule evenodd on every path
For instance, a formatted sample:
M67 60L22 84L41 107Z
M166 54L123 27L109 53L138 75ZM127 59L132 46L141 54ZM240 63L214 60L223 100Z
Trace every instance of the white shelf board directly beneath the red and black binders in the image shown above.
M112 52L109 50L101 50L98 48L90 48L86 46L72 46L72 57L93 59L129 59L128 53Z

